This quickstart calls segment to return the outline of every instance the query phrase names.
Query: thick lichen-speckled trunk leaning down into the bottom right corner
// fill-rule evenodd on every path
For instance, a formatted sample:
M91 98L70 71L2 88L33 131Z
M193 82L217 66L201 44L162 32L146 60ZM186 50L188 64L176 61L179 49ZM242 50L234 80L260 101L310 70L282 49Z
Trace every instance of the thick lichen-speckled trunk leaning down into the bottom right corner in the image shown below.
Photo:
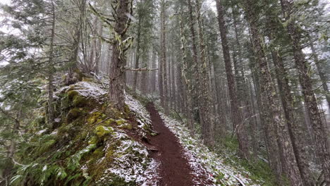
M310 115L312 127L314 129L315 142L317 144L317 153L321 159L322 170L324 173L324 180L326 185L330 185L330 154L329 144L326 137L328 136L322 117L317 107L317 99L313 92L312 79L309 75L309 64L305 60L305 55L302 52L300 43L301 34L299 28L295 25L295 20L291 20L292 4L286 0L281 0L283 15L288 22L288 35L293 46L293 56L295 58L295 66L298 70L300 85L302 88L302 95L307 105L307 111Z

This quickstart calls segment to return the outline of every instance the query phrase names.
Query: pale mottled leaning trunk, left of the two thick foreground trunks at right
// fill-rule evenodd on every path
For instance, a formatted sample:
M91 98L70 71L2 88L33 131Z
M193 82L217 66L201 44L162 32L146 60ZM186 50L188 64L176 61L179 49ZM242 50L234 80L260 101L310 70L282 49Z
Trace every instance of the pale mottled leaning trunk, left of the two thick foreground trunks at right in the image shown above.
M286 125L281 116L281 109L277 101L276 89L274 88L274 82L271 79L271 74L269 72L268 64L266 61L264 48L262 47L261 35L259 33L259 28L257 27L257 17L253 5L255 1L245 0L245 10L247 16L247 22L250 25L250 35L252 40L253 49L255 51L255 58L259 66L259 77L261 99L264 107L267 112L264 115L268 130L269 141L271 142L269 146L269 153L271 156L276 154L277 151L273 147L276 145L274 141L278 142L279 151L281 155L281 162L283 170L286 171L291 185L302 185L300 178L300 173L298 168L295 166L295 159L293 157L293 151L291 147L291 140L288 138ZM274 162L274 159L271 159L271 165L273 166L274 171L278 178L281 178L281 172L276 170L276 164L279 162ZM276 163L276 164L275 164Z

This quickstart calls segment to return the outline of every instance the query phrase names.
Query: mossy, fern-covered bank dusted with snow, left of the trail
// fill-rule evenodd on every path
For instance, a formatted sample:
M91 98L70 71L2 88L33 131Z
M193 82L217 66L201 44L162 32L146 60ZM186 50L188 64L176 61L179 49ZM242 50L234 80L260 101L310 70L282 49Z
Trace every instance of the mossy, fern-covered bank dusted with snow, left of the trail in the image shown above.
M145 139L152 128L144 107L126 95L124 112L106 101L94 80L56 92L56 119L36 113L27 148L16 155L12 185L142 185L152 159ZM47 128L48 126L48 128Z

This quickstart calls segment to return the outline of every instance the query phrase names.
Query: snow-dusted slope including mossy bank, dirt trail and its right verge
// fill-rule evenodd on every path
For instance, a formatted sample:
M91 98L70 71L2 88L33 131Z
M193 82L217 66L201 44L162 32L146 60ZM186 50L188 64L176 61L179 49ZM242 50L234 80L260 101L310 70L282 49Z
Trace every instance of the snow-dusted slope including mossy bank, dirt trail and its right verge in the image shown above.
M12 185L253 185L249 173L225 166L182 123L162 113L161 120L150 104L147 110L126 94L125 112L117 111L106 101L104 83L62 87L54 108L51 129L47 113L36 112Z

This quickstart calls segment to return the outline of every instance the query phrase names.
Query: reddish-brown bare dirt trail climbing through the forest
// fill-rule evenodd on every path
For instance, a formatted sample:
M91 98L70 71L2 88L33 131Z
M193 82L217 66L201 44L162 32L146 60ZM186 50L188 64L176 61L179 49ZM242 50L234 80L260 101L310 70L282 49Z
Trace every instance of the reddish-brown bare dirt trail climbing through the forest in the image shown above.
M153 130L159 133L150 140L150 144L157 149L152 154L152 158L160 162L159 185L191 186L196 185L196 180L198 183L212 185L212 182L207 179L207 173L198 177L193 174L193 169L183 155L184 149L178 142L178 138L164 125L154 104L147 104L147 111L150 113Z

